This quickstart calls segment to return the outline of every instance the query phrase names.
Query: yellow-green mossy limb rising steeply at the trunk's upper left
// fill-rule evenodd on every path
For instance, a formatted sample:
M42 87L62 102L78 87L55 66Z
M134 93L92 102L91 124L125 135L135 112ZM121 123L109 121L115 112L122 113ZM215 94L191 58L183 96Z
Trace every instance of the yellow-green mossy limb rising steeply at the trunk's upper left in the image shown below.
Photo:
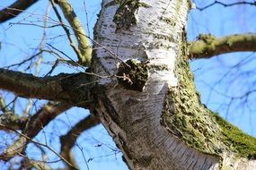
M86 34L84 31L84 27L82 23L79 21L78 17L76 16L72 5L67 0L57 0L54 2L53 0L50 0L50 1L53 4L53 6L54 6L54 2L59 5L59 7L61 8L62 12L66 17L66 20L71 25L75 33L75 38L77 39L77 42L78 42L79 53L76 53L76 55L78 54L79 64L89 66L91 63L91 57L92 57L92 47L91 47L92 45L90 43L89 38L85 36ZM55 10L55 13L57 13L57 10ZM67 36L70 36L70 35L67 35Z

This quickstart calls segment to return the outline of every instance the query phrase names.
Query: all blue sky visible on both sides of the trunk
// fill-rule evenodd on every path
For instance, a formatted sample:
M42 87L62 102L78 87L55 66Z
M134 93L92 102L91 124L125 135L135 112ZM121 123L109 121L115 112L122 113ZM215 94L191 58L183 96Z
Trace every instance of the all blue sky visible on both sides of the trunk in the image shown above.
M11 4L13 1L1 2L0 8L6 4ZM101 0L86 0L86 12L88 13L88 21L84 10L84 2L72 0L78 17L83 22L84 27L89 26L90 36L93 37L93 25L97 19L96 14L101 9ZM196 4L204 6L213 1L197 0ZM223 1L232 3L236 1ZM6 4L5 4L6 3ZM43 31L39 25L43 24L43 16L46 13L48 1L40 1L38 4L29 9L29 13L22 13L14 20L7 21L0 25L0 41L2 47L0 49L0 66L22 61L25 57L29 57L37 52L40 39L42 38ZM255 32L256 25L252 21L255 18L256 10L253 6L234 6L222 7L215 5L203 12L193 10L190 13L188 21L188 38L194 40L199 33L211 33L217 37L230 35L234 33ZM55 18L52 10L50 16ZM16 24L16 23L20 24ZM21 23L31 23L31 25L21 25ZM86 29L87 30L87 29ZM62 50L75 59L75 54L65 37L65 33L61 28L54 28L47 30L48 42ZM246 105L239 100L230 100L230 96L240 96L244 92L253 88L256 78L253 74L255 70L255 61L253 59L254 53L235 53L229 55L220 55L211 59L201 59L198 61L191 61L191 69L195 73L195 80L197 88L199 89L202 101L211 109L224 116L228 121L238 125L244 132L251 133L256 136L255 129L255 95L252 94L247 98ZM44 55L44 62L41 64L39 74L41 76L49 72L50 65L56 60L56 56ZM241 63L241 64L239 64ZM236 65L236 67L234 67ZM237 66L238 65L238 66ZM25 69L28 64L22 68ZM17 69L13 67L11 69ZM53 74L58 72L83 72L79 68L73 68L66 64L61 64ZM30 72L35 72L34 68ZM251 72L251 74L250 74ZM221 81L219 81L221 80ZM6 94L4 94L6 95ZM12 95L6 95L10 100ZM41 106L44 101L39 102ZM26 102L21 99L17 106L17 112L22 113ZM248 106L247 106L248 105ZM251 110L250 110L250 109ZM36 108L34 108L36 110ZM45 139L43 133L36 137L36 140L45 141L52 145L54 149L59 150L58 140L55 139L59 133L65 134L68 128L72 127L79 120L88 115L87 111L80 108L73 108L65 114L58 116L57 120L50 123L44 129L48 133L49 138ZM7 136L8 137L8 136ZM6 138L7 138L6 137ZM0 148L1 149L1 148ZM39 153L34 146L31 145L30 149L34 157ZM111 141L107 132L99 125L92 130L84 132L78 139L77 145L74 149L75 157L79 157L78 163L81 169L87 169L84 161L92 159L87 163L91 170L93 169L128 169L127 166L121 161L121 154L116 151L115 144ZM53 159L56 156L50 155ZM39 157L40 158L40 157ZM55 164L56 167L62 166Z

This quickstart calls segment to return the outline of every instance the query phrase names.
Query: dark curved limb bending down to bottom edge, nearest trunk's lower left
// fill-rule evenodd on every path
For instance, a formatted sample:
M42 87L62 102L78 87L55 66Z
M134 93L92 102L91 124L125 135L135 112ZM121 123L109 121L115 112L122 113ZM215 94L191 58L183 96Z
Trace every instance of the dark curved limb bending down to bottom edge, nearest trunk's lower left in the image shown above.
M84 120L76 123L75 126L66 133L66 135L61 136L60 143L61 143L61 152L60 155L65 157L68 162L70 162L73 166L76 166L75 158L72 154L72 148L75 145L76 139L79 135L92 128L93 126L100 123L100 119L95 115L88 115L84 118ZM76 166L78 168L78 166Z

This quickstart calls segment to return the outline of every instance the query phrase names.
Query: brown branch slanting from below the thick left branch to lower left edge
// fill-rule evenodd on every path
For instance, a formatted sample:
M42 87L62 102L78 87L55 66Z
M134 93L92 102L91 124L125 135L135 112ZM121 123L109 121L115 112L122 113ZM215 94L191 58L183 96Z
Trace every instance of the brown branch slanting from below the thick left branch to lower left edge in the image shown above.
M16 140L13 145L4 150L4 153L0 155L0 159L9 160L17 154L22 154L26 149L28 142L33 139L43 127L45 127L50 121L67 109L72 107L69 103L51 103L43 106L39 112L32 115L30 120L26 124L26 128L22 131L22 135ZM1 126L4 126L1 124ZM5 127L11 130L12 127Z

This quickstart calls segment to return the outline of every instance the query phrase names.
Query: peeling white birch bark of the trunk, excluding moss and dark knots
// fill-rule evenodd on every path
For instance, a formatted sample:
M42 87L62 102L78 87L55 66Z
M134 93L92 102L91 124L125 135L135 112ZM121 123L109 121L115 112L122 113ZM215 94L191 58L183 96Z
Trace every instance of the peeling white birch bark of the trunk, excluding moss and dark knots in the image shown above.
M98 81L104 89L103 93L99 92L102 97L96 109L124 154L128 167L146 170L253 169L253 161L234 159L221 141L217 145L224 148L222 154L203 153L188 146L161 123L168 90L180 83L175 74L175 62L181 55L181 33L186 28L191 4L189 0L144 0L140 3L146 5L136 10L137 24L116 30L113 18L119 4L103 0L95 27L95 40L103 48L97 46L93 72L109 76ZM125 89L119 84L113 75L117 74L121 62L110 52L123 61L149 60L149 77L142 92ZM163 66L164 69L159 69ZM174 103L170 103L169 109L174 112ZM217 126L214 132L220 132Z

